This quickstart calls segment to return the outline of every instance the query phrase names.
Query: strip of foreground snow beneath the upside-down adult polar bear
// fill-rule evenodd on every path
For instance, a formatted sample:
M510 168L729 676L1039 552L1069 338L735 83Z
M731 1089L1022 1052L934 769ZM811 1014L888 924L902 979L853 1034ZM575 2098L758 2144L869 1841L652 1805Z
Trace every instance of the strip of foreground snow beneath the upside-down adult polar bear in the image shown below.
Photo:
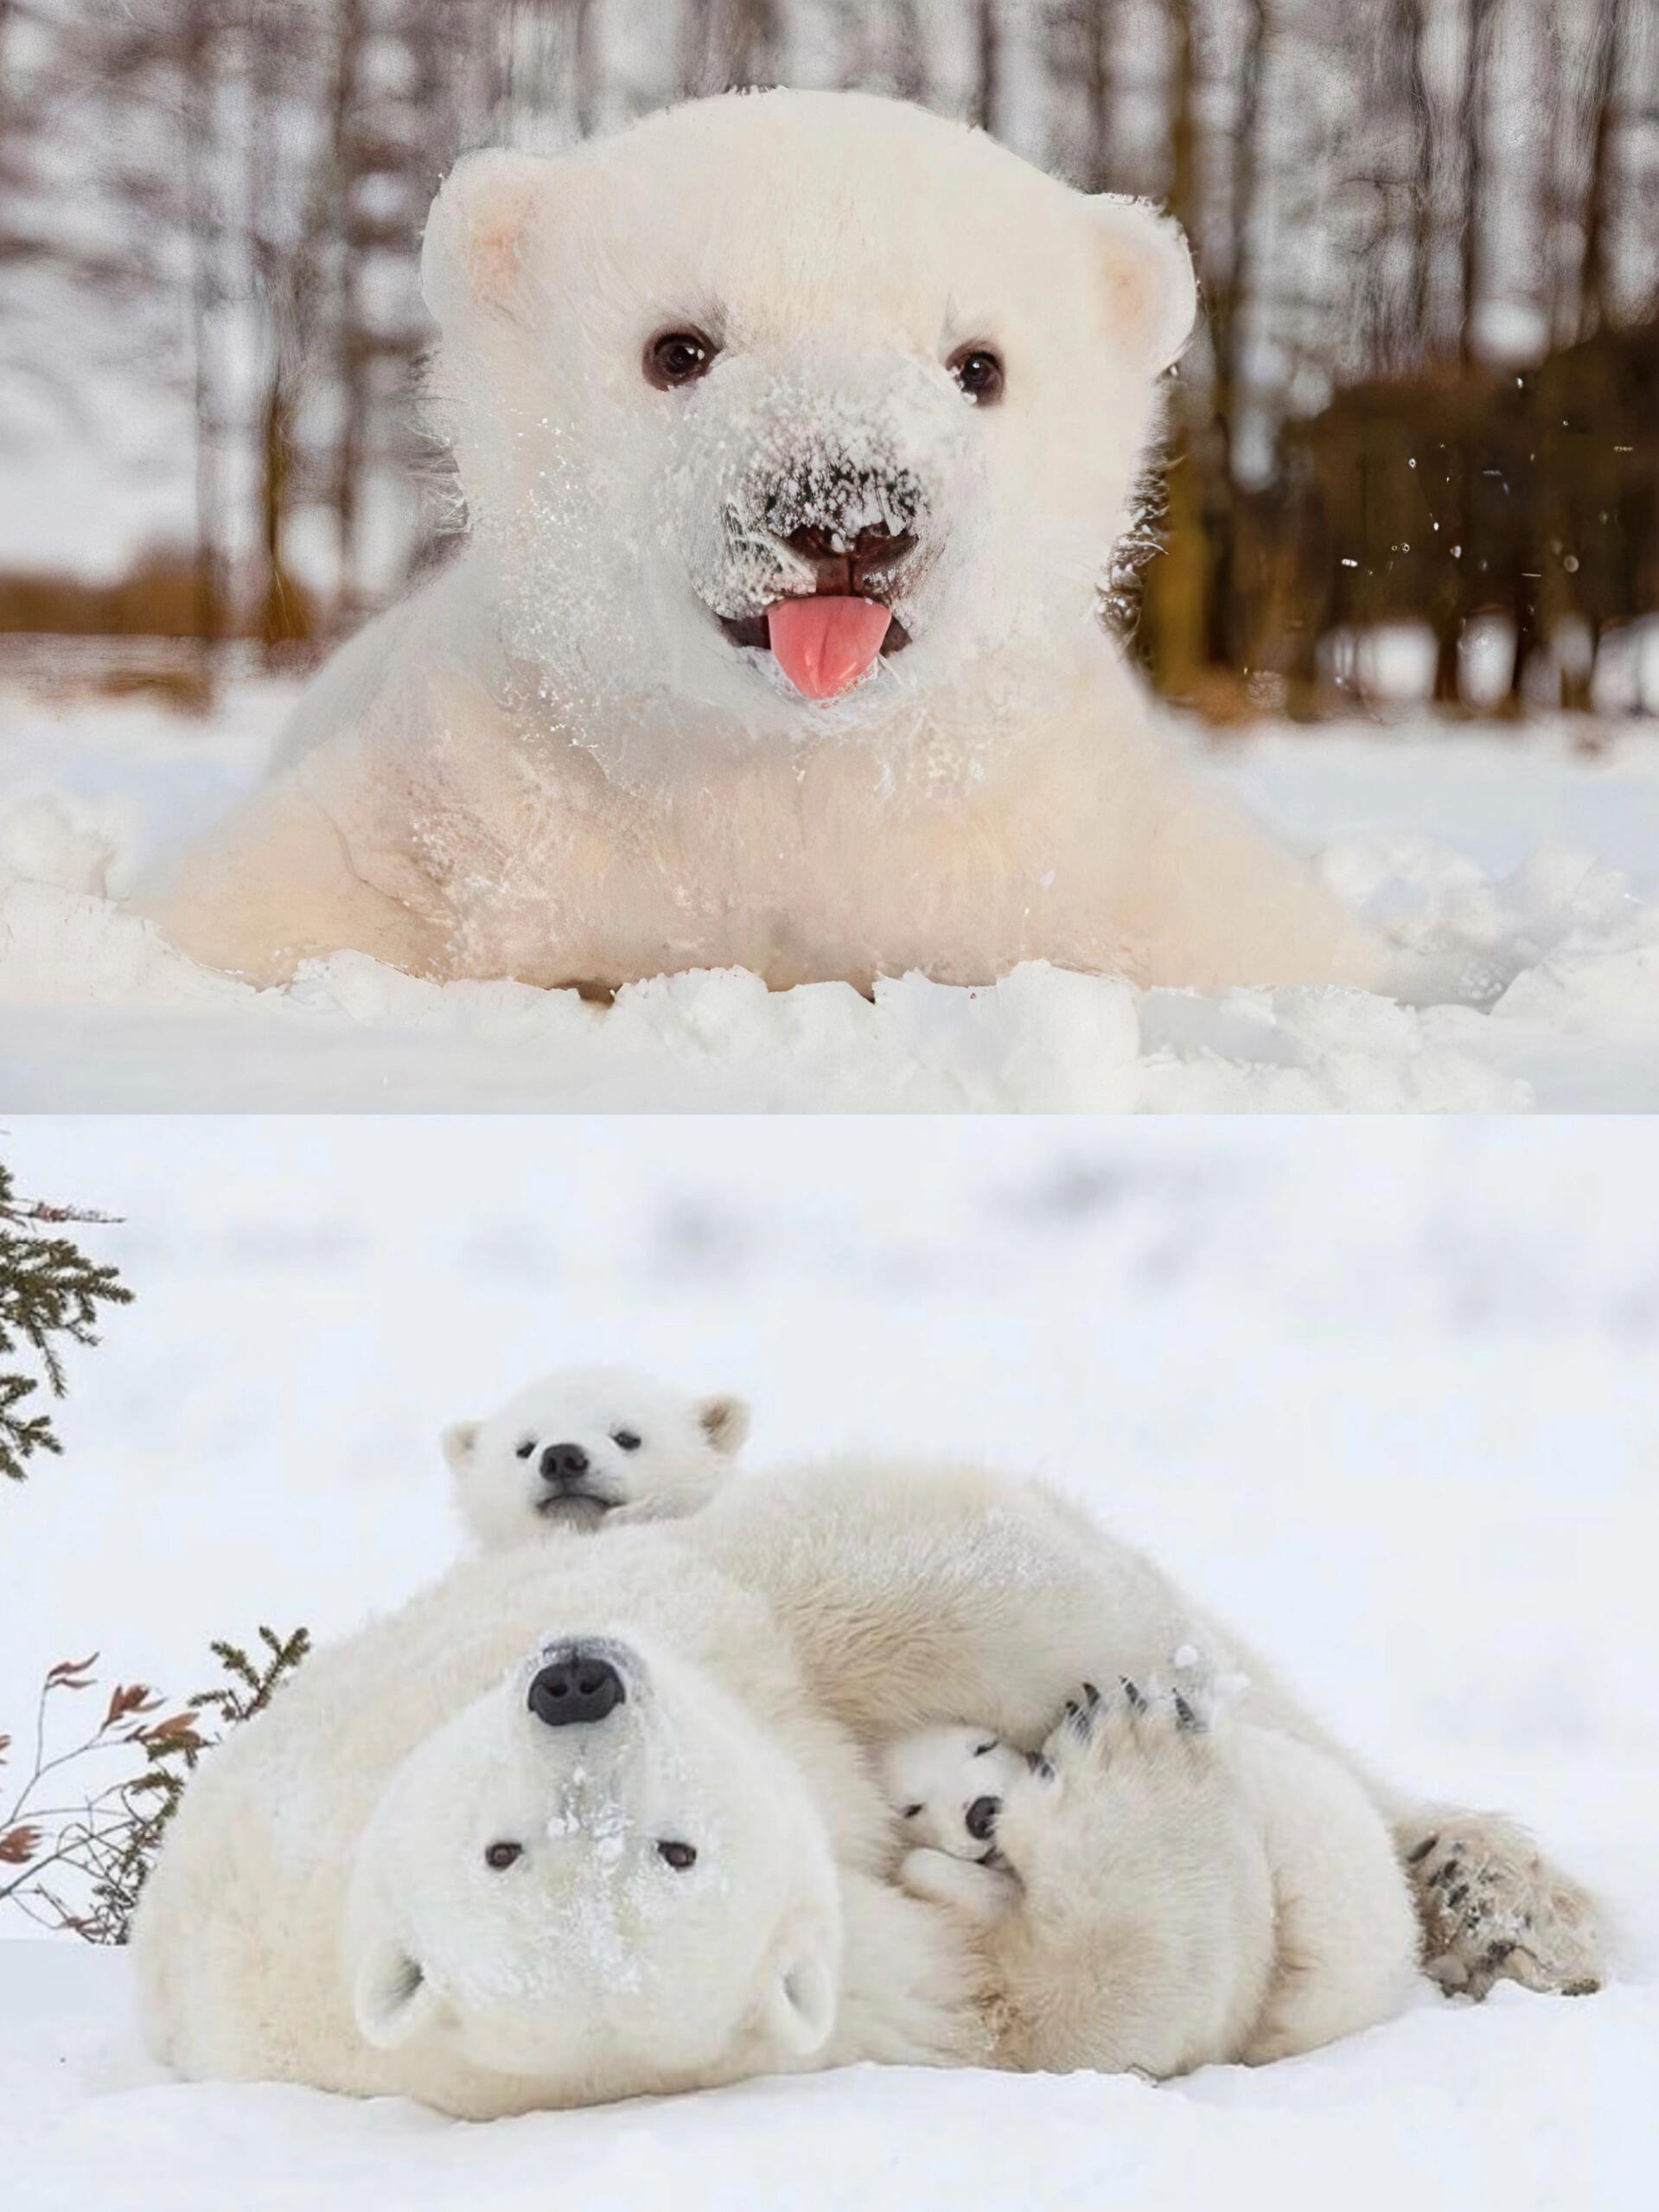
M119 1951L4 1944L0 1971L0 2121L27 2212L153 2212L157 2190L175 2212L354 2212L365 2188L403 2212L1637 2212L1659 2148L1652 1989L1571 2002L1500 1984L1480 2011L1425 1991L1402 2020L1307 2059L1164 2086L854 2066L476 2126L389 2097L170 2081L137 2051Z

